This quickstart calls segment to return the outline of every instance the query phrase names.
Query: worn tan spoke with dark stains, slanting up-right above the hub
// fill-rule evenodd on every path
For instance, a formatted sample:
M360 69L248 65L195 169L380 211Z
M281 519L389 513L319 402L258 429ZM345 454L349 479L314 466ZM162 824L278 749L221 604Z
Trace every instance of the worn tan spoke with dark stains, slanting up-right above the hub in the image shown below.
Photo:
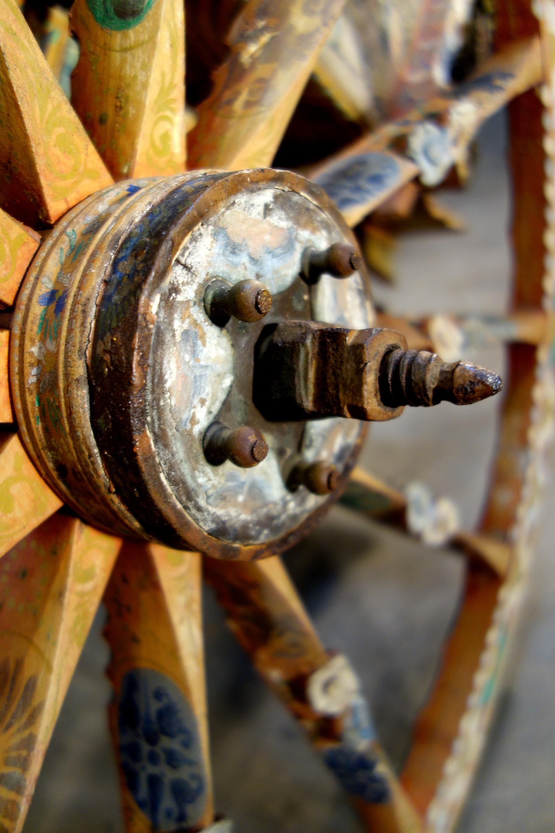
M188 136L189 167L267 167L344 0L250 0Z

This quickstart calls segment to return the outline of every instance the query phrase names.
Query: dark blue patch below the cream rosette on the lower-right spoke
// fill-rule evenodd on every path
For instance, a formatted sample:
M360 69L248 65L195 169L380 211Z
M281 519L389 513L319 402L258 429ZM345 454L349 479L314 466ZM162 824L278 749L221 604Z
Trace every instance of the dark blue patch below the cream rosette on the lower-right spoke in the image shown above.
M371 751L332 746L324 752L324 761L349 796L358 796L369 804L390 801L389 786L384 776L376 772L378 761Z

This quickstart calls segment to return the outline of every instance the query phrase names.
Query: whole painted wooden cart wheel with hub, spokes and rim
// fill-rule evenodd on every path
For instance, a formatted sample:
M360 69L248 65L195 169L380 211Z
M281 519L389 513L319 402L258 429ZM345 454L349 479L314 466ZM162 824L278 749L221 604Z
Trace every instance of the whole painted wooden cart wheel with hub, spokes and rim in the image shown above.
M342 0L246 4L188 162L182 0L76 0L72 106L19 5L0 11L0 831L22 828L102 598L126 829L230 830L211 792L202 562L367 829L452 831L518 621L553 423L552 4L538 20L500 2L485 66L365 132L314 181L265 166ZM499 380L426 352L427 322L376 321L349 226L414 177L439 182L510 99L499 451L478 531L442 533L437 506L423 515L351 475L364 422L474 402ZM325 651L280 561L342 493L469 556L400 779L349 661Z

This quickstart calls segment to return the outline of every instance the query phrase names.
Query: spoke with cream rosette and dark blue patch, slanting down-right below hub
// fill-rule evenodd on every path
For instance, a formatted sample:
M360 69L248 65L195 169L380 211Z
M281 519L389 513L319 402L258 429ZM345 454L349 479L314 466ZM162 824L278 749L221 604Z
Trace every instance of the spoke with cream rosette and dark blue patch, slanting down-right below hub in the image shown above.
M418 833L419 816L375 739L354 671L325 651L280 558L207 558L204 574L256 670L308 732L369 831Z

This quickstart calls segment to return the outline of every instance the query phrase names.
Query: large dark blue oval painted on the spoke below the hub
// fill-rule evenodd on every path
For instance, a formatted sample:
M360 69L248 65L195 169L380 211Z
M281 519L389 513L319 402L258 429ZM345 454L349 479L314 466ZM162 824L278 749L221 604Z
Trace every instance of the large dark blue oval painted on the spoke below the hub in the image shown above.
M134 668L121 681L117 711L121 768L153 831L178 831L201 820L206 774L196 717L168 677Z

